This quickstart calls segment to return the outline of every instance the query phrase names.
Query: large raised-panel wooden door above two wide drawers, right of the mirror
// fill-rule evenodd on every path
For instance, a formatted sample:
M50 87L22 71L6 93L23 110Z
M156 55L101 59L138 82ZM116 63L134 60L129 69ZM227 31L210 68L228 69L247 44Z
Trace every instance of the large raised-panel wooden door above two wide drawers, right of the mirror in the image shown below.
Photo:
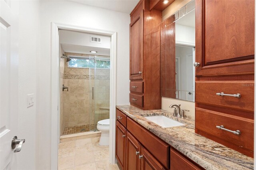
M196 76L254 73L254 0L196 0Z

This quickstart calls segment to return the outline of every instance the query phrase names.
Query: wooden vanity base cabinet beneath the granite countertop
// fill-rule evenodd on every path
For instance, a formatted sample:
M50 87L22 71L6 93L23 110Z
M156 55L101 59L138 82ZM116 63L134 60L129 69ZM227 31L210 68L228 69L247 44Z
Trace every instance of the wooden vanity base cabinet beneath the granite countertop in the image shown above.
M116 119L116 158L122 170L203 169L129 117Z

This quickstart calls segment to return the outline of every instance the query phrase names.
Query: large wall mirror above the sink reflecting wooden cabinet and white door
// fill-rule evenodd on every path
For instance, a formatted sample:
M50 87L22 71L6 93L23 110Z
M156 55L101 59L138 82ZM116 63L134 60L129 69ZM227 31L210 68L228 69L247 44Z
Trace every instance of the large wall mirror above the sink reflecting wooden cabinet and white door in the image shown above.
M161 24L161 95L195 101L195 1Z

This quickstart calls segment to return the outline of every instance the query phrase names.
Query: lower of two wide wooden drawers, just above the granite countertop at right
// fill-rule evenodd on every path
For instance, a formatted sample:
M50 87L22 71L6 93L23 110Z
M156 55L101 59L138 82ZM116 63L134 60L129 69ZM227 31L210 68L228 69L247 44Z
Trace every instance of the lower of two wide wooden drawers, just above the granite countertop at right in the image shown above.
M216 126L241 134L233 134ZM196 132L248 156L253 155L254 121L196 107ZM246 151L247 150L247 151Z

